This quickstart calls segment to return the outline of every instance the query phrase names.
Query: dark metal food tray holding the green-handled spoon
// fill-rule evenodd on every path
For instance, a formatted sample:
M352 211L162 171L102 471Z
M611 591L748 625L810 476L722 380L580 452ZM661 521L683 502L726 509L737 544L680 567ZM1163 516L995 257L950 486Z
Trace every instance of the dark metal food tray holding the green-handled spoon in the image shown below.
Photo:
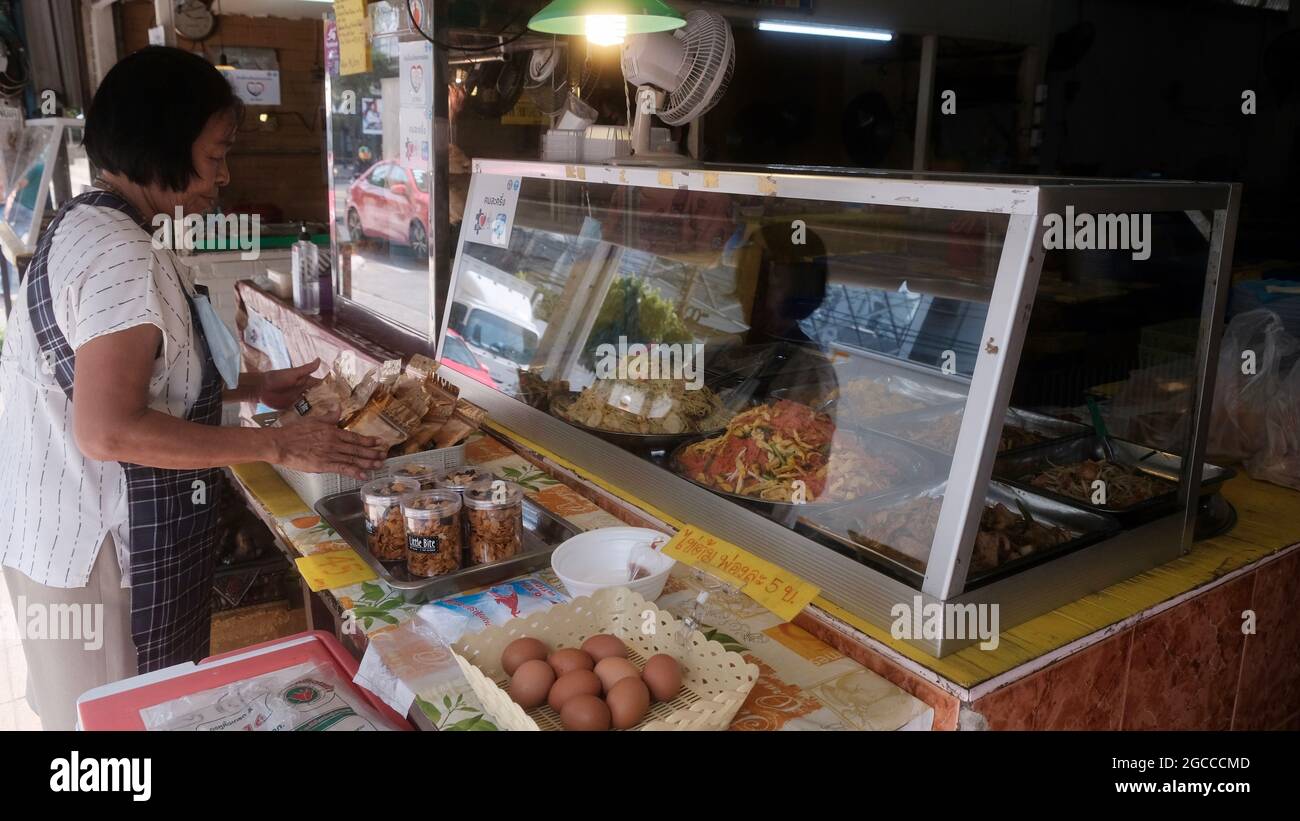
M1105 459L1105 447L1096 434L1004 453L993 462L993 477L1032 494L1114 516L1126 527L1158 518L1176 508L1178 478L1183 469L1180 456L1123 439L1112 438L1110 443L1114 447L1117 462L1164 482L1162 492L1123 505L1112 499L1108 499L1105 505L1096 505L1089 499L1076 499L1069 494L1031 483L1034 475L1050 468ZM1234 475L1236 475L1236 470L1231 468L1204 462L1201 465L1200 495L1218 492L1223 482Z

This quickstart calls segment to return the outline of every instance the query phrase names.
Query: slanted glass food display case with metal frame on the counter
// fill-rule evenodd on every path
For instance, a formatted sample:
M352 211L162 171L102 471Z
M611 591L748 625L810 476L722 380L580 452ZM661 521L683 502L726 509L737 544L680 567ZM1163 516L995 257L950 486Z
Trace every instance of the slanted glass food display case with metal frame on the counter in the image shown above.
M477 160L439 357L514 434L867 621L919 598L1005 629L1223 525L1236 200Z

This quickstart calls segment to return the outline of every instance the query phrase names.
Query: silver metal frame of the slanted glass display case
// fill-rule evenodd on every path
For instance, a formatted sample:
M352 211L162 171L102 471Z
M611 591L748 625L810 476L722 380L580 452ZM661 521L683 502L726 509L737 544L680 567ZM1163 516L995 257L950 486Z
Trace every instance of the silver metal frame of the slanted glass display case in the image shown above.
M894 607L923 604L998 604L1000 629L1027 621L1106 585L1169 561L1191 548L1196 495L1214 368L1221 338L1227 272L1236 226L1240 188L1208 183L1139 183L1128 181L1014 179L958 174L845 174L798 169L646 169L476 160L469 201L480 175L585 181L649 188L686 188L792 199L861 203L1001 213L1009 226L988 305L984 334L970 381L957 452L927 564L922 591L810 542L779 524L742 509L668 472L647 472L646 462L614 444L455 373L462 395L485 408L502 426L573 462L581 472L634 494L641 501L682 522L703 524L718 537L745 547L816 583L823 595L850 613L888 630ZM1014 575L965 591L975 531L996 456L997 430L1006 413L1014 365L1034 307L1043 266L1043 217L1072 205L1080 213L1212 212L1209 265L1204 281L1200 336L1195 359L1197 386L1192 438L1179 485L1183 516L1167 516L1122 531L1087 548L1054 557ZM1204 222L1204 217L1201 217ZM456 248L455 294L464 231ZM442 327L446 327L443 316ZM439 338L439 357L442 340ZM1008 366L1008 365L1011 366ZM997 430L996 430L997 429ZM994 447L987 447L988 444ZM909 638L924 651L944 656L976 638Z

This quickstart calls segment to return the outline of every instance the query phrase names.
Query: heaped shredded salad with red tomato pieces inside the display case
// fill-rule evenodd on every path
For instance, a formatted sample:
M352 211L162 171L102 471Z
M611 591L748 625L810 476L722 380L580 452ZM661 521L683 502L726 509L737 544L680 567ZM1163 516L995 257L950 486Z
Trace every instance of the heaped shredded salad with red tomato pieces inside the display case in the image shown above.
M867 453L829 416L786 399L736 414L725 431L682 447L676 460L699 485L762 501L848 501L902 479L900 465Z

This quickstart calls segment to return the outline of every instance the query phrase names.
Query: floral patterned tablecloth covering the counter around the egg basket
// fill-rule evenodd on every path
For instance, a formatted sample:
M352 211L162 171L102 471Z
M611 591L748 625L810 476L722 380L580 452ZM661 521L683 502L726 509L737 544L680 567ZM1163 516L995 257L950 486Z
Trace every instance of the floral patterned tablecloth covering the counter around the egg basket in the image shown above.
M614 514L560 483L502 442L476 435L465 459L524 487L534 501L578 530L620 526ZM252 496L283 499L270 472L235 469ZM269 478L268 478L269 477ZM291 491L290 491L291 492ZM302 503L300 499L296 501ZM307 504L291 511L290 501L268 511L285 540L303 556L347 549L350 546ZM549 570L538 578L563 591ZM681 562L673 569L656 604L681 617L701 590L708 600L701 616L706 635L757 664L760 676L732 722L733 730L897 730L930 729L932 711L880 676L793 624L764 609L749 596ZM416 705L442 730L495 730L468 682L415 620L421 605L408 604L382 579L329 591L376 647L387 668L416 695Z

